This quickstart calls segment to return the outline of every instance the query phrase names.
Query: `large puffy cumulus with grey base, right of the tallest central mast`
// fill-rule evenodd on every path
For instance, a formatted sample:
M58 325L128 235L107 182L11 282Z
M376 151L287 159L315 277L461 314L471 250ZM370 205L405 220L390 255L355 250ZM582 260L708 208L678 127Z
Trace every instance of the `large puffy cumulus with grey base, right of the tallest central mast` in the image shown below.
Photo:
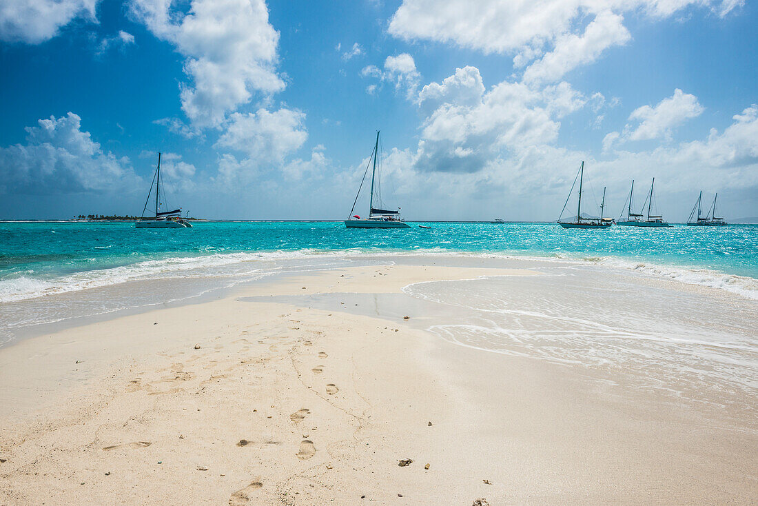
M559 118L586 99L568 83L534 89L503 81L485 91L478 68L456 69L418 93L426 119L413 166L421 171L476 172L504 151L553 143Z

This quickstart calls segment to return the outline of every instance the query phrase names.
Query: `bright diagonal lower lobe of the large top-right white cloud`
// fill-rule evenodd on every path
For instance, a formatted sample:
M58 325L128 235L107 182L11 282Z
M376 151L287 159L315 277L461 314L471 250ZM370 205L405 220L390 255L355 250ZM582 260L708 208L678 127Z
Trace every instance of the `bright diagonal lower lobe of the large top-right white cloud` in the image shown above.
M555 49L524 72L525 82L559 80L581 64L595 61L610 46L619 46L631 39L618 14L603 11L587 25L584 33L566 33L558 37Z

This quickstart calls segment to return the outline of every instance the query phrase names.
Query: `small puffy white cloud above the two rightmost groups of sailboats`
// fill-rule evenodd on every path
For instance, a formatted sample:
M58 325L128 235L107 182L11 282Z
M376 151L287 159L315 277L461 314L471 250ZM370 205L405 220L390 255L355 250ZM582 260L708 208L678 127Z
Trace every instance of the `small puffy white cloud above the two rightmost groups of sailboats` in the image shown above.
M697 97L684 93L678 88L674 90L674 95L667 99L662 99L658 105L650 107L643 105L634 109L629 115L630 121L641 121L641 123L631 130L627 125L627 130L631 130L626 136L630 140L650 140L657 137L671 137L671 129L684 123L691 118L697 118L705 109Z

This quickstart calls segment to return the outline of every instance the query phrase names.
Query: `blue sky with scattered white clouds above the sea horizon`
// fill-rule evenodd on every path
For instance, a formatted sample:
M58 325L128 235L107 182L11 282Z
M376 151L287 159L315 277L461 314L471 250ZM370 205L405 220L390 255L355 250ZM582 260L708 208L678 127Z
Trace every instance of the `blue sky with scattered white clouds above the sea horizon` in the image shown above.
M0 218L758 216L741 0L0 0ZM370 175L370 172L369 172ZM364 185L364 188L366 184ZM357 213L368 211L362 192Z

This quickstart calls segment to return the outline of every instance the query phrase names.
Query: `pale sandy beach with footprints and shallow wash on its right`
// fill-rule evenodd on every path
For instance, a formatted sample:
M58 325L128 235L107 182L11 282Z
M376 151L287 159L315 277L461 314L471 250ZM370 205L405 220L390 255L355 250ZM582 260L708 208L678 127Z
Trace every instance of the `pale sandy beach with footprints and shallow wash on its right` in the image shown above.
M524 336L654 336L660 323L627 328L618 310L649 288L670 313L656 321L682 335L754 339L755 301L627 277L585 299L587 319L558 322L533 308L568 314L594 278L478 263L293 273L3 347L0 504L754 504L754 349L723 346L740 355L711 368L722 382L688 376L690 348L684 372L666 370L668 351L639 344L652 338L627 348L640 366L568 345L562 362ZM510 294L498 317L518 313L522 337L473 344L462 327L484 320L432 289ZM725 309L703 324L677 310L693 301Z

